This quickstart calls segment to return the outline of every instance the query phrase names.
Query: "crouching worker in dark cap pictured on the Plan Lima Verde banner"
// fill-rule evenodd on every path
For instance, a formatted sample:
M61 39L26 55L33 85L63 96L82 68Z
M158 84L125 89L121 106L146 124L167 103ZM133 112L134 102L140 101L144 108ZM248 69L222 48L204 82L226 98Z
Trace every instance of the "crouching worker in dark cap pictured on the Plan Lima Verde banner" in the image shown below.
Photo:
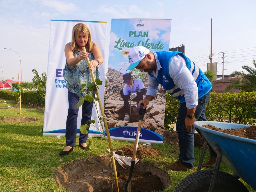
M129 121L129 99L137 103L137 108L139 108L139 101L143 99L145 95L145 87L142 80L139 78L133 79L130 73L125 73L123 75L123 83L125 83L124 88L120 91L121 97L124 100L124 121Z

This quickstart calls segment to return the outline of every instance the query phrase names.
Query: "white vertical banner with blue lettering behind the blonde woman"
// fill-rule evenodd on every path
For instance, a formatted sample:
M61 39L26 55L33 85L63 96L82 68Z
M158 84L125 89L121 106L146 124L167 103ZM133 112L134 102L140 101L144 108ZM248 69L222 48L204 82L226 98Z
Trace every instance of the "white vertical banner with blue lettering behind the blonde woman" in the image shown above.
M107 22L51 20L43 136L65 136L66 118L68 114L68 89L66 88L66 81L63 75L66 64L64 47L68 42L71 42L72 29L77 23L84 23L89 27L92 41L99 46L104 61L106 61ZM103 98L105 64L101 64L99 69L101 74L100 80L103 81L99 87L99 93ZM102 99L102 105L104 105L103 102L104 100ZM97 108L99 109L99 106ZM98 111L100 113L100 110ZM96 107L94 106L92 119L97 116L96 114ZM81 116L82 106L79 108L77 118L77 135L79 135L80 131ZM102 130L99 130L99 128L98 121L91 124L89 137L102 135Z

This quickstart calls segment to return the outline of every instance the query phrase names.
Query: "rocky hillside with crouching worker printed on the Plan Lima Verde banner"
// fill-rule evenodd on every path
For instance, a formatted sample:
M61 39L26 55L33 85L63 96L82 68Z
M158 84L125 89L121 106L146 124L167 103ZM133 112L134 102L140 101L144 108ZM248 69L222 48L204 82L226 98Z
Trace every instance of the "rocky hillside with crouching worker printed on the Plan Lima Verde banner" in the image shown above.
M109 128L137 127L139 121L138 102L145 98L148 88L146 73L131 70L121 73L119 66L108 68L106 79L105 115ZM115 89L115 92L112 91ZM111 94L109 94L111 90ZM164 132L166 91L159 85L157 97L148 105L142 127L161 136Z

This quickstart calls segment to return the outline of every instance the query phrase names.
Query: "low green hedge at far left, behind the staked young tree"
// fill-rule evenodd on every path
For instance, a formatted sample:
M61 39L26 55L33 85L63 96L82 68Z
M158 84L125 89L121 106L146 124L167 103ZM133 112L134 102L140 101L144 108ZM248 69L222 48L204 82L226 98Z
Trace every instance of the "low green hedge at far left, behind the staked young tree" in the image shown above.
M15 91L0 91L0 98L18 102L18 94ZM38 91L24 91L24 93L21 93L21 103L44 107L45 93Z

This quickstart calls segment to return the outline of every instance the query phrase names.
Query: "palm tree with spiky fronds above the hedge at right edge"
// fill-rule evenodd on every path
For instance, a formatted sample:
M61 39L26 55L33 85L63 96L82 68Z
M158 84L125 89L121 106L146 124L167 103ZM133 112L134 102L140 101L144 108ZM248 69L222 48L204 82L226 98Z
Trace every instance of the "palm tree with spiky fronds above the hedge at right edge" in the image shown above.
M247 71L248 73L245 73L243 71L234 71L231 73L231 76L240 75L242 78L239 80L233 81L230 85L228 85L225 89L225 92L228 92L232 89L239 89L242 92L252 92L256 91L256 62L253 60L253 67L243 65L242 69Z

